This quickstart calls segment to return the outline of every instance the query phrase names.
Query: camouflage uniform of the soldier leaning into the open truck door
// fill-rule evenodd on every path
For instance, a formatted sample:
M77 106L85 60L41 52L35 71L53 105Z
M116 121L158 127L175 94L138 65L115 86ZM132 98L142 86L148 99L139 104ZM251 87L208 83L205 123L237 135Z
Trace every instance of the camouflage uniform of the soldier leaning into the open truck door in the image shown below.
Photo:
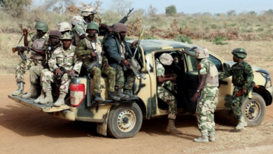
M164 77L165 72L164 66L160 64L158 59L156 59L155 64L156 76ZM172 82L170 80L166 81L165 83L158 84L158 98L169 105L168 119L175 120L177 111L177 101L174 95L169 91L172 91Z

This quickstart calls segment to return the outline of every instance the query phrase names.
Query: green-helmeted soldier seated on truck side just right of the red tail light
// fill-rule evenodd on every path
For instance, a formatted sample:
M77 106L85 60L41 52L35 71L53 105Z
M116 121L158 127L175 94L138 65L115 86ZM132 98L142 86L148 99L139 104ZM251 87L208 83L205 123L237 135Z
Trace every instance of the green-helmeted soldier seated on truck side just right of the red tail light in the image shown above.
M101 76L102 73L108 76L108 99L113 99L114 101L119 101L120 98L114 95L114 88L116 83L116 70L113 67L109 66L107 59L105 56L102 56L102 45L97 38L96 34L99 33L99 27L95 23L90 23L87 25L87 37L80 41L78 44L76 55L80 57L83 62L83 66L85 69L91 69L90 73L94 79L94 100L96 102L102 102L104 99L101 97ZM96 57L99 57L99 68L97 66L93 66L90 68L92 62ZM103 59L102 59L103 57Z

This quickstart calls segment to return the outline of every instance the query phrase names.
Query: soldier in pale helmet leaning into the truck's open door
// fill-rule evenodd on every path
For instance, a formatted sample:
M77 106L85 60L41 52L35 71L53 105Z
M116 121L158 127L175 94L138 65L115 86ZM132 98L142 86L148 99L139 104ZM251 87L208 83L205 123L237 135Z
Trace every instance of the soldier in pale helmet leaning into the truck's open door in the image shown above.
M164 66L170 66L172 62L172 55L169 55L168 53L162 53L162 55L160 55L159 57L159 60L155 60L156 76L158 83L158 98L169 105L169 123L167 125L166 131L172 132L173 134L182 134L182 132L180 130L177 130L174 125L174 120L176 119L177 101L174 95L169 92L173 89L172 87L174 85L172 83L176 81L176 77L174 73L165 74L164 68Z

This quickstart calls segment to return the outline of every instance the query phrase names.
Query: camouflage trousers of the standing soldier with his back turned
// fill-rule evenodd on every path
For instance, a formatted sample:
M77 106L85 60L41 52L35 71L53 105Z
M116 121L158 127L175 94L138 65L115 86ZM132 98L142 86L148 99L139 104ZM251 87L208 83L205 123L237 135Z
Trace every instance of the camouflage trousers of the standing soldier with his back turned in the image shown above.
M198 129L202 134L215 133L214 111L218 102L217 94L201 94L197 106Z

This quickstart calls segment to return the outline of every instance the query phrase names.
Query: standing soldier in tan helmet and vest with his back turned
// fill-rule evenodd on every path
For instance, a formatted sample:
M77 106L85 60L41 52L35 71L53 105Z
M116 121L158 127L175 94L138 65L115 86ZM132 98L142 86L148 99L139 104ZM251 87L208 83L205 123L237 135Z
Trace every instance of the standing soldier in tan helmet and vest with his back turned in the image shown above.
M201 137L196 142L215 141L214 111L218 103L218 70L209 59L209 50L198 47L195 56L199 60L200 85L192 101L197 102L197 123ZM199 97L199 98L198 98ZM199 100L199 102L198 102Z

